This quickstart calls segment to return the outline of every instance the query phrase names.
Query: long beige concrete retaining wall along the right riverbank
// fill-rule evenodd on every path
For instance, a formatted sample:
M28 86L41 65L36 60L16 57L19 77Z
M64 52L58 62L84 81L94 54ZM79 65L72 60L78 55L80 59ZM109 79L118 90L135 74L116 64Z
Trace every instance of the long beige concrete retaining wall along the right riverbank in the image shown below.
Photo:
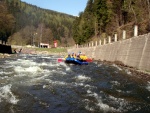
M150 33L106 45L68 49L68 52L79 51L95 60L121 61L125 65L150 71Z

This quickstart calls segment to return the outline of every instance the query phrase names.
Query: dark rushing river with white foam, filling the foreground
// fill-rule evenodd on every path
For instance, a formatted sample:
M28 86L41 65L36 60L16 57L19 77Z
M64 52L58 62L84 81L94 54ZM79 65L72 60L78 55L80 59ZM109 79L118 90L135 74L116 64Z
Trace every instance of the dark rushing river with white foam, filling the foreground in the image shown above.
M96 61L20 54L0 59L0 113L149 113L150 81Z

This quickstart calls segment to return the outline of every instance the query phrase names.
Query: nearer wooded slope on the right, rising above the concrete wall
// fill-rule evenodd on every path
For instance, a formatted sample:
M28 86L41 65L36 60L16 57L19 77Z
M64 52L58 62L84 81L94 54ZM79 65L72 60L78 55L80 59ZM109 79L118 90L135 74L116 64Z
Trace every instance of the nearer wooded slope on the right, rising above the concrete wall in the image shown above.
M84 44L127 31L133 36L134 25L139 26L139 35L150 32L150 0L88 0L84 12L73 24L73 38Z

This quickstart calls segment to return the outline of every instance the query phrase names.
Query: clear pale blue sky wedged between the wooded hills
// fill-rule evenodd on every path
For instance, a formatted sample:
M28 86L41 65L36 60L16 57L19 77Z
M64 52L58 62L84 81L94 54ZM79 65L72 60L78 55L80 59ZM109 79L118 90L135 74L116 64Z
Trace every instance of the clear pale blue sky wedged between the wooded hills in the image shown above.
M79 16L83 12L88 0L21 0L36 5L40 8L50 9L57 12Z

